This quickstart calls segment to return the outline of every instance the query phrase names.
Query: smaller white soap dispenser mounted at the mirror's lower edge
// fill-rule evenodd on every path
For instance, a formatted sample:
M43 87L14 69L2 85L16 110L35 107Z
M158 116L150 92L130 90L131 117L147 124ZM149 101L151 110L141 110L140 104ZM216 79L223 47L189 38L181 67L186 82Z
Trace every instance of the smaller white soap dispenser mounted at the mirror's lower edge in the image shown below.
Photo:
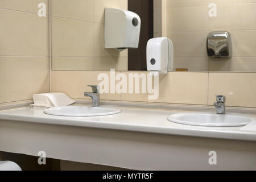
M147 71L167 74L174 68L174 46L168 38L154 38L147 42Z

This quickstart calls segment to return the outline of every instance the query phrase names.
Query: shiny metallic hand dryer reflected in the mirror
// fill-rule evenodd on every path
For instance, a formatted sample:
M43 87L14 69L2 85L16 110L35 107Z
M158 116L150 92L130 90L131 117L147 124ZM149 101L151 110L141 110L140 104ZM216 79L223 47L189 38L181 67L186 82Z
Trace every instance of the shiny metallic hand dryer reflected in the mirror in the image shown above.
M231 57L231 37L228 31L210 32L207 39L209 57Z

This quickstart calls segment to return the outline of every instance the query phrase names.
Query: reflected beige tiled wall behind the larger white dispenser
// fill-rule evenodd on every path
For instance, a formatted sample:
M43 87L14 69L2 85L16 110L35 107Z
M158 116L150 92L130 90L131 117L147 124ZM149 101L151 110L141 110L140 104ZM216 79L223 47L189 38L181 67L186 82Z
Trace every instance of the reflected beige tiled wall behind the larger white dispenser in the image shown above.
M127 50L104 48L105 7L127 9L127 0L54 0L52 69L127 71Z

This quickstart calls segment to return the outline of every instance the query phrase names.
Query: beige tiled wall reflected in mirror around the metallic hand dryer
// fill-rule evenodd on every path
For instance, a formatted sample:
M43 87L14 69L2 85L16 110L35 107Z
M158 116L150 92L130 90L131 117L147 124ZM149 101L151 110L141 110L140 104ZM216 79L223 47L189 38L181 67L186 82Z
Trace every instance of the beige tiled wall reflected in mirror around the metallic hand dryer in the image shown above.
M189 71L256 71L256 0L164 0L166 35L174 43L174 66ZM217 16L208 15L216 3ZM227 30L232 36L230 59L208 59L210 31ZM163 30L164 31L164 30ZM185 46L184 46L185 45Z

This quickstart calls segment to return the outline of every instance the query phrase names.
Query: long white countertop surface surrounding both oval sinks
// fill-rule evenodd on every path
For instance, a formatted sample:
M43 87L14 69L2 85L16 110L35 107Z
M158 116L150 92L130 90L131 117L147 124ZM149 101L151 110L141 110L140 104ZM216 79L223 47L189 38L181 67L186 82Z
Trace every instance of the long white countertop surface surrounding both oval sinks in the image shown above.
M44 114L42 107L22 107L0 111L1 120L45 123L78 127L94 127L98 129L113 129L139 131L147 133L184 135L191 137L208 137L220 139L238 139L256 141L256 131L246 127L203 127L173 123L167 120L168 115L182 111L131 109L120 107L122 113L100 117L59 117ZM188 112L188 111L186 111ZM255 115L247 115L254 119Z

